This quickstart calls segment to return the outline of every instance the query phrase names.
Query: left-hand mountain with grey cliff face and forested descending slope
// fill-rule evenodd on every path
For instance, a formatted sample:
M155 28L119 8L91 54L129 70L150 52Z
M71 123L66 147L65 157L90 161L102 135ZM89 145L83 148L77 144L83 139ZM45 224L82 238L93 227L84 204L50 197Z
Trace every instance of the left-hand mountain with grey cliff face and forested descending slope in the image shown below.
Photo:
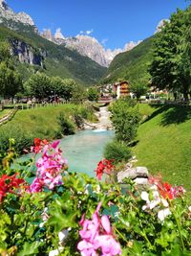
M0 0L0 40L5 39L11 43L12 55L20 60L18 69L24 80L39 70L88 86L96 84L106 72L105 67L91 58L39 35L27 13L15 13Z

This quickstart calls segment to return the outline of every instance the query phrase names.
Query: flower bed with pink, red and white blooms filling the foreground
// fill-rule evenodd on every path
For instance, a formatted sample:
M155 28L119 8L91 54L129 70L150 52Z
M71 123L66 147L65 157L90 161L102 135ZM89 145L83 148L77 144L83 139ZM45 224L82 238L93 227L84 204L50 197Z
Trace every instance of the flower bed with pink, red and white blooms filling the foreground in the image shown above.
M181 186L151 176L144 191L131 180L121 189L99 181L115 169L111 160L98 163L97 181L66 172L59 141L36 138L32 151L32 184L26 162L0 175L0 255L191 255L191 206Z

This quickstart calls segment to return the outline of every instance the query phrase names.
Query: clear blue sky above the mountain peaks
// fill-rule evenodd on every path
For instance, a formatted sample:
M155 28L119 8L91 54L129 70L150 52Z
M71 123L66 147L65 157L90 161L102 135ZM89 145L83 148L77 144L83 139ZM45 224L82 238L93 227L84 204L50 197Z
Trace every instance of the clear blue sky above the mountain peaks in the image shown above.
M184 0L7 0L14 12L27 12L39 31L61 28L65 36L92 31L106 48L122 48L155 32L159 20L168 18Z

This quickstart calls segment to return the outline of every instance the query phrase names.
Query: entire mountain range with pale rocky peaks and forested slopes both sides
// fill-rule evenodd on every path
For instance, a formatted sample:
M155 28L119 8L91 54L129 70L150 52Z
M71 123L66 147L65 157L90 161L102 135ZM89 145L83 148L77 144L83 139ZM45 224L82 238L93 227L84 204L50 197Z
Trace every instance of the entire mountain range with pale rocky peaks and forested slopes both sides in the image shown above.
M54 35L50 30L40 34L30 15L15 13L5 0L0 0L0 40L7 38L11 42L12 54L20 60L18 69L24 80L36 70L72 78L86 86L149 78L154 37L127 43L123 49L105 50L90 35L65 37L60 29Z

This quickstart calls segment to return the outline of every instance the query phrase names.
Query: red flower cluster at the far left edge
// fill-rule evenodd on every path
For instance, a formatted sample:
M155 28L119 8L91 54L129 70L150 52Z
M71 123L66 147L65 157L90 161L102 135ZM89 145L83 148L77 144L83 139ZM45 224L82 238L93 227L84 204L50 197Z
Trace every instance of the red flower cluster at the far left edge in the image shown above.
M25 183L23 178L16 178L16 175L2 175L0 178L0 202L8 193L14 193L14 189L18 189L20 184Z

